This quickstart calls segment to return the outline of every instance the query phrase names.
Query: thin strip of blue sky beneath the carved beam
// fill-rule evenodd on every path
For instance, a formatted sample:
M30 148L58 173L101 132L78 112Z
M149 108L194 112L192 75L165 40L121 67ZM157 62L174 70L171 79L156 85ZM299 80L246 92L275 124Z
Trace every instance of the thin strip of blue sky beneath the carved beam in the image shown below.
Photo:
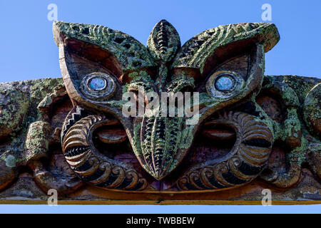
M275 214L320 213L320 205L0 205L1 213L50 214Z

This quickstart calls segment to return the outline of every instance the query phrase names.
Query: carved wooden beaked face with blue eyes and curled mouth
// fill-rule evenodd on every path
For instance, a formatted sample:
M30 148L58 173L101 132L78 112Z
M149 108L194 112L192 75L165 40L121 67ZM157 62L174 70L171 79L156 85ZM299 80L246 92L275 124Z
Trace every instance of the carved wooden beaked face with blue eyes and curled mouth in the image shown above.
M273 24L208 29L180 47L162 20L147 48L103 26L54 24L63 81L74 108L61 134L81 179L118 190L218 190L253 180L272 147L255 94L264 53L279 36ZM127 116L123 93L197 92L193 116ZM161 99L160 99L161 100ZM154 100L155 102L155 100ZM151 99L143 97L143 108ZM177 107L176 107L177 108Z

